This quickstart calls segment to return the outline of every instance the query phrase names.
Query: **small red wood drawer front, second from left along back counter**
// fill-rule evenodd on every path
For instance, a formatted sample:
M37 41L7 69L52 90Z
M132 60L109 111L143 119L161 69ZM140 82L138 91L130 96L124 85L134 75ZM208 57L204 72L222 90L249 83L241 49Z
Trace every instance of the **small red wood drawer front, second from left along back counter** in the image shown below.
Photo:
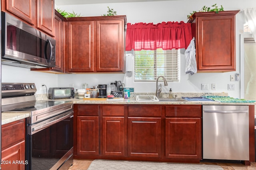
M124 106L101 106L103 116L124 116Z

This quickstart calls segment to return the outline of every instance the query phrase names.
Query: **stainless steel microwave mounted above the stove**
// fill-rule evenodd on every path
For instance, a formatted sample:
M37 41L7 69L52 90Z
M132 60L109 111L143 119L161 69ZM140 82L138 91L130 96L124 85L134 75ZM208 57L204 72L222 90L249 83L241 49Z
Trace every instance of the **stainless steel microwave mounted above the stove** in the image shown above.
M55 66L56 41L52 37L4 12L1 28L2 64L26 68Z

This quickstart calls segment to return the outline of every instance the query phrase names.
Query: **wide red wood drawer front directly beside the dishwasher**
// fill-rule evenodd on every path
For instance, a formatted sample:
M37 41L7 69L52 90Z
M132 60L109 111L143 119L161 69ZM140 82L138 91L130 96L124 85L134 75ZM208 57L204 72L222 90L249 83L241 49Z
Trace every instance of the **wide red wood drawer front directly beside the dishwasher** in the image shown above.
M172 117L201 117L201 105L165 106L165 115Z

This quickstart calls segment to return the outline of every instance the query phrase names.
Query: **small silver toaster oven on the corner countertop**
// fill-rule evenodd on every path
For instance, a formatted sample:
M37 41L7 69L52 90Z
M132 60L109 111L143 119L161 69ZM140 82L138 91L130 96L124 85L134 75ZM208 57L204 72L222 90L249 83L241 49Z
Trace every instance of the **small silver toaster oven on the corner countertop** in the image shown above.
M49 99L68 99L75 97L73 87L53 87L49 88Z

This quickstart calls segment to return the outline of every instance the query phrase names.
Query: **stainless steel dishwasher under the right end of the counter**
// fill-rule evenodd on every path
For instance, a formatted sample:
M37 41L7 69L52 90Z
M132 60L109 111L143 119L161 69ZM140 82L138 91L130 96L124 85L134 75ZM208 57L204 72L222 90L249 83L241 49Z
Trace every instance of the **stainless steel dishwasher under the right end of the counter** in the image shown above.
M249 160L249 106L203 106L203 159Z

